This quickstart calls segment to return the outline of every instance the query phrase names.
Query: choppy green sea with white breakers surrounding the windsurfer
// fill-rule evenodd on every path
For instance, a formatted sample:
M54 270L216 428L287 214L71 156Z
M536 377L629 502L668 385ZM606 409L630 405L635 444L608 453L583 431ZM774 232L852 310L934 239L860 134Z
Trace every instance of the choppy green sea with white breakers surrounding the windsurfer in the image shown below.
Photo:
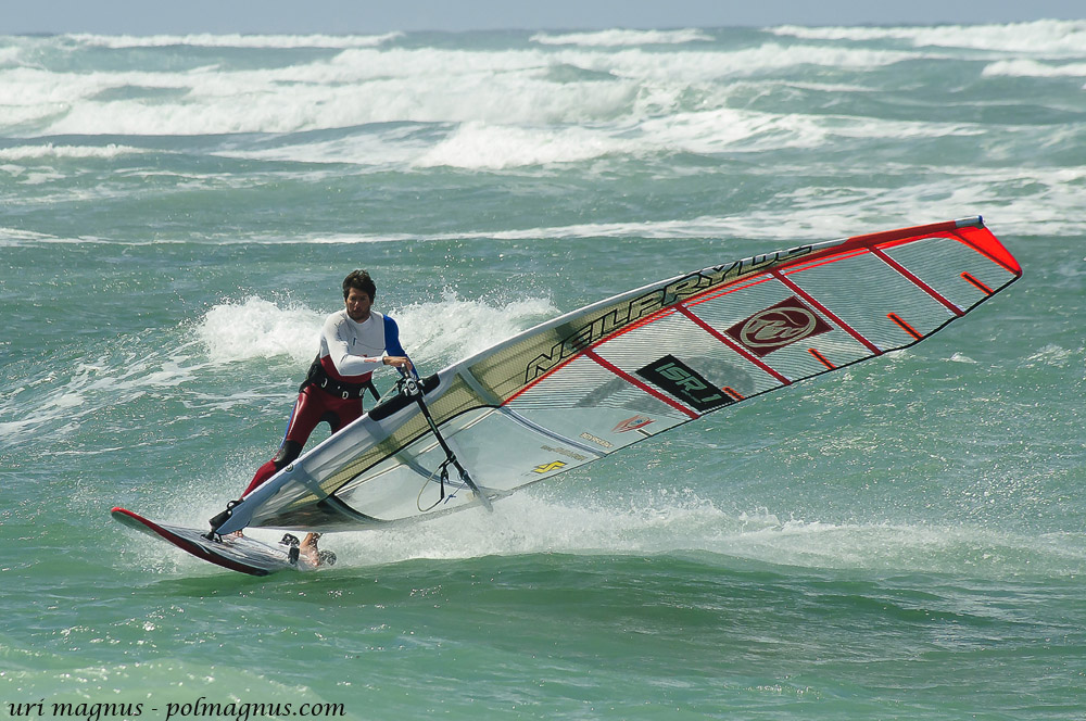
M1086 717L1084 86L1084 22L0 37L0 717ZM492 515L266 579L110 520L238 494L353 268L432 372L975 214L968 318Z

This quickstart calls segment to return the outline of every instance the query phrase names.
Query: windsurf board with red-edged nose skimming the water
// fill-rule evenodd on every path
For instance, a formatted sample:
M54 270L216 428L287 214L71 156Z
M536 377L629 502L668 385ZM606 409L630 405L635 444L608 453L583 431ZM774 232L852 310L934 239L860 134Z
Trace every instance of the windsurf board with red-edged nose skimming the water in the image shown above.
M159 523L121 507L113 508L111 515L118 523L165 541L210 564L240 573L269 575L286 570L311 571L318 566L299 556L296 551L291 553L296 545L290 543L272 545L245 536L209 539L206 531Z

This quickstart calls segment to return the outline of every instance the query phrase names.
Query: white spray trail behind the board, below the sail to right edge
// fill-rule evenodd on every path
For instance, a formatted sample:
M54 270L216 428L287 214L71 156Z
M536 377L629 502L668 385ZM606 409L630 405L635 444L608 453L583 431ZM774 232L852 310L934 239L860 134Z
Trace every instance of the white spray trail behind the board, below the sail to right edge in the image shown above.
M566 485L588 483L566 481ZM766 508L725 510L717 502L660 486L624 502L576 491L559 499L554 485L502 499L493 514L468 509L387 531L327 536L343 566L407 558L471 558L539 553L710 553L810 568L968 572L1078 573L1086 557L1077 543L967 526L822 522L781 519Z

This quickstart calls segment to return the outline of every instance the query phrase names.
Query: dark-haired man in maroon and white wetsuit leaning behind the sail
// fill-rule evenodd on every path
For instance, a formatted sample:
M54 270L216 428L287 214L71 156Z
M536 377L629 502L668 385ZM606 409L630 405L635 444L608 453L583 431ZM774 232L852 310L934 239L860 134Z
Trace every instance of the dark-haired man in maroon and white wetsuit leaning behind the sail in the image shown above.
M242 497L298 458L319 422L327 421L336 433L359 418L366 389L377 396L371 381L376 367L411 370L400 327L372 309L376 296L377 286L367 271L354 270L343 279L344 308L325 320L320 352L299 389L279 451L256 470Z

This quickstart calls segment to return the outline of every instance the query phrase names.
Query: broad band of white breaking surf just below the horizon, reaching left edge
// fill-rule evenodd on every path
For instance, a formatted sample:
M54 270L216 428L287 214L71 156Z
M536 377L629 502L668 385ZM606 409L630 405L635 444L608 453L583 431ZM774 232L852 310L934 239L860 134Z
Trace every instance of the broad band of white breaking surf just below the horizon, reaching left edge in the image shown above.
M181 72L0 71L11 100L0 128L41 134L204 135L291 132L371 123L545 125L614 123L672 112L696 90L708 107L727 102L721 79L799 65L864 69L908 53L766 43L736 51L653 53L641 49L495 52L348 48L331 59L265 69ZM556 79L554 68L578 68ZM147 99L129 89L172 91ZM116 93L117 90L126 92ZM238 113L239 104L245 107Z

